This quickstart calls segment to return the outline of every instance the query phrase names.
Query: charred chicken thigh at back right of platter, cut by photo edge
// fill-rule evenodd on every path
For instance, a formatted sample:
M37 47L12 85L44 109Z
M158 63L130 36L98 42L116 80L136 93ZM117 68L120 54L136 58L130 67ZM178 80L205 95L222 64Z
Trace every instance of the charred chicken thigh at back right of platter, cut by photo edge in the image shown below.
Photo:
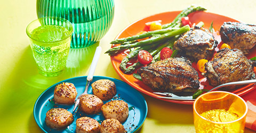
M240 49L244 54L248 54L256 44L256 25L224 22L220 28L220 36L231 48Z

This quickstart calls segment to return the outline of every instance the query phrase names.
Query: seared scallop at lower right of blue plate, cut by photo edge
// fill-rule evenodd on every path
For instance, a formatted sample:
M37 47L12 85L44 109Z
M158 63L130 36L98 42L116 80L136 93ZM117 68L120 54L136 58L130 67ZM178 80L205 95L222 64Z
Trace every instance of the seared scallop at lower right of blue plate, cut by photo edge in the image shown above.
M101 122L101 133L122 133L127 132L124 126L116 119L106 119Z

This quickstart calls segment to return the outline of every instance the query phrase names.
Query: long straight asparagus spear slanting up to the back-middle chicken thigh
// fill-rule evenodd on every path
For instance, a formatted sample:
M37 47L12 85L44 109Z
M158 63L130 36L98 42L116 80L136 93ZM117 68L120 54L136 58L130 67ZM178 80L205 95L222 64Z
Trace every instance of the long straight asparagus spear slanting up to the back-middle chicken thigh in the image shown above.
M173 30L171 32L167 32L166 34L162 34L160 36L153 36L149 39L142 40L142 41L139 41L137 43L119 45L119 46L110 48L105 53L108 53L111 56L111 55L114 55L114 54L118 53L119 51L121 51L123 49L128 49L128 48L132 48L132 47L141 47L141 46L145 46L145 45L152 44L152 43L160 43L160 42L166 41L167 39L170 39L173 36L180 35L183 32L188 31L189 29L190 29L190 27L188 25L183 26L180 29Z

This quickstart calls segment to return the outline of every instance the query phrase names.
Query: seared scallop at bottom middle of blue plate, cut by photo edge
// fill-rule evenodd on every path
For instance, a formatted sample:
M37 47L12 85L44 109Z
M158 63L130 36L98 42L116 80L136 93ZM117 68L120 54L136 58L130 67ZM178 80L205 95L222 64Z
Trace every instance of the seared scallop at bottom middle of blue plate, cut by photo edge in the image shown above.
M97 133L100 131L100 123L90 117L82 117L76 120L76 133Z

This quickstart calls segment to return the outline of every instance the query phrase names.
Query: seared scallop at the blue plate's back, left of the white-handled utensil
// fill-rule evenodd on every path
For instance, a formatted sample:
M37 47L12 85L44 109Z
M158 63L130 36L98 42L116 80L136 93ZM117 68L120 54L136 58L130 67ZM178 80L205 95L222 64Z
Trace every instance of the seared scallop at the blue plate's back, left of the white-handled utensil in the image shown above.
M54 89L54 101L59 104L73 104L75 102L77 92L74 84L63 82Z

